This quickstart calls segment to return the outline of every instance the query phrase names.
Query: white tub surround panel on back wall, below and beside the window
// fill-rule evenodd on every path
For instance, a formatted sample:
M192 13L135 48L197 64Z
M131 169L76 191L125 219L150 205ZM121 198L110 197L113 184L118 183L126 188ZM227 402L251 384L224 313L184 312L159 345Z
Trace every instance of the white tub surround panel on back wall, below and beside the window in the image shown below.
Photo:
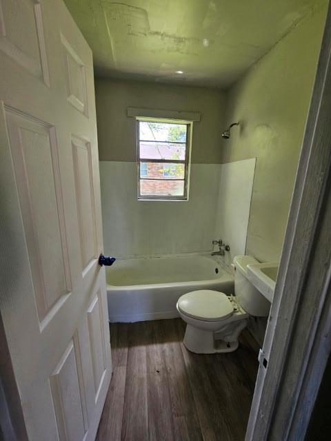
M191 164L188 201L138 201L137 163L100 162L105 254L146 256L209 251L219 164Z

